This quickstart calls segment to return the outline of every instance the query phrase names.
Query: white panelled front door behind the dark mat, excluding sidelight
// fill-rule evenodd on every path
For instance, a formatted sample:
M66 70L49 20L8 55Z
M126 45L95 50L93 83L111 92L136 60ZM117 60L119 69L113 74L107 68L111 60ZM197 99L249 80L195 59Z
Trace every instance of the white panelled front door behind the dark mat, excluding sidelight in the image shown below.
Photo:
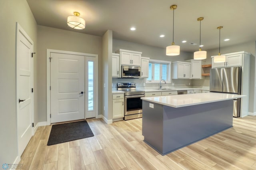
M50 53L51 123L84 119L84 56Z

